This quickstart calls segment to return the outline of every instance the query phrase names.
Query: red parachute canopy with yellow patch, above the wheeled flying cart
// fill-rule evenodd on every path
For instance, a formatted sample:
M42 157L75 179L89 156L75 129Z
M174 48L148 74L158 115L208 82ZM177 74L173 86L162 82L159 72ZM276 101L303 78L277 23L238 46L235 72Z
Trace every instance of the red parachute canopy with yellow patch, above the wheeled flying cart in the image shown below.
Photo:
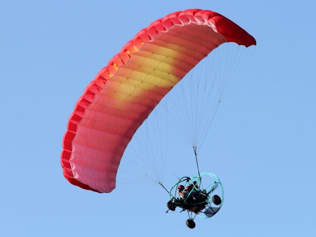
M231 20L200 9L171 13L137 33L89 83L69 118L61 153L66 179L99 193L114 190L136 130L175 84L224 42L256 44Z

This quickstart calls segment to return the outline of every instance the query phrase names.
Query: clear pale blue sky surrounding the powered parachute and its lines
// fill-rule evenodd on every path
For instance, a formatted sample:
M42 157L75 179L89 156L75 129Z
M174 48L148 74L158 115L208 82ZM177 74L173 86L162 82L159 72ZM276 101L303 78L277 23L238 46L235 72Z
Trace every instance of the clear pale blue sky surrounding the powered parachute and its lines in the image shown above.
M188 8L217 11L257 40L200 153L225 202L194 230L184 213L164 213L158 186L97 194L70 185L60 166L86 85L140 29ZM0 236L315 236L315 8L312 0L1 1ZM192 159L181 147L171 154ZM172 173L164 179L175 182Z

